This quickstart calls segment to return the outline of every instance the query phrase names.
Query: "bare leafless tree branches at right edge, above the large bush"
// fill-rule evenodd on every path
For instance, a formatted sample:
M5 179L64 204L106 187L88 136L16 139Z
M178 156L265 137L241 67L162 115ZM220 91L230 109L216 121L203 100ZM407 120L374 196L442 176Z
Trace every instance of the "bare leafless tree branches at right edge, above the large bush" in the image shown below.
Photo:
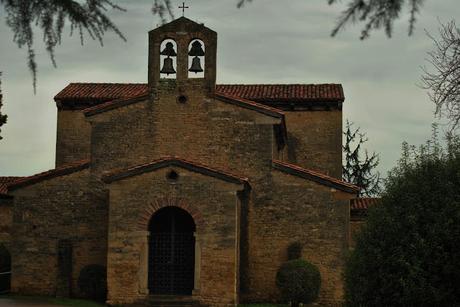
M439 38L427 35L434 43L428 53L431 70L423 68L422 87L436 106L435 114L446 116L452 129L460 126L460 28L455 21L441 24Z

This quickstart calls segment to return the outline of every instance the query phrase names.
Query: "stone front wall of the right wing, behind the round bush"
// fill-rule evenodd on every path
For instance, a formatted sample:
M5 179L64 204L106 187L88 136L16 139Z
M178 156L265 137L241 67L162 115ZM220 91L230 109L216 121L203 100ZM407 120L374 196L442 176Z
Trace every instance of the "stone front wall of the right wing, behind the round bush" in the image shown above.
M279 299L276 272L287 260L289 244L299 241L304 245L303 258L320 269L319 301L326 306L340 302L348 249L348 199L353 195L280 171L269 178L269 188L254 189L251 195L243 301Z

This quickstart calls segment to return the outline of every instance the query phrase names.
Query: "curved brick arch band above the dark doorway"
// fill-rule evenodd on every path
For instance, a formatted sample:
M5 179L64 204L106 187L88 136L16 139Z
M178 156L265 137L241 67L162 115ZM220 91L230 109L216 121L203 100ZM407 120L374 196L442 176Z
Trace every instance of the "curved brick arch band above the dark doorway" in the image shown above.
M163 197L154 200L146 206L144 212L140 216L138 229L141 231L147 230L149 227L150 219L155 214L155 212L165 207L178 207L187 211L192 216L197 231L203 228L203 217L195 206L191 205L189 202L182 198Z

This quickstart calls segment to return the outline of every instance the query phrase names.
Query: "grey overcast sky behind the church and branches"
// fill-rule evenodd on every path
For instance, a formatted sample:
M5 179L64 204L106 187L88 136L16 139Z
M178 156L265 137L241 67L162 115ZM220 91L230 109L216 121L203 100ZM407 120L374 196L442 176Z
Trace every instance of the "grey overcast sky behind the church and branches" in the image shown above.
M54 167L56 107L53 97L69 82L146 82L147 31L159 23L149 1L115 1L127 12L113 12L113 21L128 38L105 36L104 47L80 45L64 35L52 67L36 35L38 91L33 94L26 52L13 43L0 7L0 71L3 112L8 123L0 141L0 176L31 175ZM400 156L401 143L418 145L429 138L433 105L417 86L432 42L424 29L437 33L438 19L460 16L458 0L427 0L412 37L408 16L393 38L375 32L359 40L361 25L337 37L330 31L340 6L326 0L254 0L243 9L236 0L188 0L186 16L218 33L218 83L342 83L344 121L367 133L367 148L380 154L385 175ZM348 2L348 1L343 1ZM174 1L177 7L182 1ZM176 9L176 16L180 16Z

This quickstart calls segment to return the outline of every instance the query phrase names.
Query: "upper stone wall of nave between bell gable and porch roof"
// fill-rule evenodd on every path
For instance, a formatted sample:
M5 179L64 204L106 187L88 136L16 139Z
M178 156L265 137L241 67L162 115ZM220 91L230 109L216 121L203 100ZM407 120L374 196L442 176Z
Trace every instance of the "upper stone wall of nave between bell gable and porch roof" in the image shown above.
M165 85L166 86L166 85ZM208 98L190 88L185 104L175 89L158 98L89 117L92 169L97 174L178 156L235 174L263 177L272 160L279 119Z

